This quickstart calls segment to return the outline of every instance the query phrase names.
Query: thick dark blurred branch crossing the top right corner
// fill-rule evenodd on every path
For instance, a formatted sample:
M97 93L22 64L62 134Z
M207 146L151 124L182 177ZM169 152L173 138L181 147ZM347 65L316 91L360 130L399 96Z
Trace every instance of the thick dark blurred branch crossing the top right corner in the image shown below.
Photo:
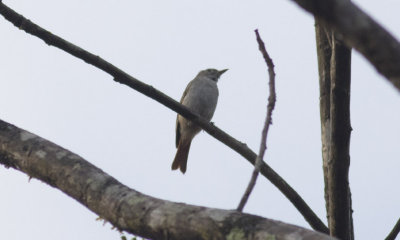
M400 43L348 0L292 0L359 51L400 90Z

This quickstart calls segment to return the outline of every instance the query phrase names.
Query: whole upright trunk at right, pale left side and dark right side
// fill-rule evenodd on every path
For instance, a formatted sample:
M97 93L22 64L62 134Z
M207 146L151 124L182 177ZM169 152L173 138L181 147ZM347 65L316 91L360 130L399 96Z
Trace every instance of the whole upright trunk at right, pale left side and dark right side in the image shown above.
M316 20L325 201L330 234L353 239L350 167L351 49Z

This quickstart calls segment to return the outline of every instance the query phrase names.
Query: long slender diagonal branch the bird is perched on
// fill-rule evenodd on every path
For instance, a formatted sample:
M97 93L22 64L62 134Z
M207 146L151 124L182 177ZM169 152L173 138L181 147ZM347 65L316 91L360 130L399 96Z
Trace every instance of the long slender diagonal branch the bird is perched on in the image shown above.
M55 46L64 50L65 52L84 60L86 63L91 64L114 77L116 82L129 86L136 91L156 100L157 102L163 104L169 109L179 113L185 118L195 122L207 133L209 133L214 138L218 139L220 142L224 143L245 159L247 159L253 165L257 155L249 149L246 144L234 139L221 129L217 128L213 124L210 124L205 119L199 117L198 115L192 113L187 107L183 106L174 99L168 97L164 93L155 89L154 87L147 85L136 78L128 75L124 71L115 67L114 65L108 63L104 59L96 56L64 39L50 33L49 31L41 28L40 26L32 23L30 20L24 18L22 15L16 13L14 10L10 9L6 5L0 2L0 14L3 15L8 21L13 23L18 29L24 30L25 32L32 34L47 43L50 46ZM325 224L318 218L318 216L312 211L312 209L307 205L307 203L300 197L300 195L281 177L279 176L270 166L262 163L260 167L260 172L269 181L272 182L288 199L296 209L303 215L305 220L311 225L311 227L320 232L328 232L328 228Z

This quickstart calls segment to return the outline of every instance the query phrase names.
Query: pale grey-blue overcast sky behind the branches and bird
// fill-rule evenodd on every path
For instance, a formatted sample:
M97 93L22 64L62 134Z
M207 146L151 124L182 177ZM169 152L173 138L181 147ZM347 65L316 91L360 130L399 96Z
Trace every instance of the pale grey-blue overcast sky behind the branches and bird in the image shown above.
M219 81L213 122L258 152L268 74L277 104L265 161L326 222L313 18L288 0L3 1L54 34L180 99L205 68ZM396 0L361 7L400 36ZM0 17L0 119L79 154L127 186L162 199L234 209L252 166L207 133L185 175L171 171L176 114ZM400 95L353 51L350 186L357 239L383 239L400 216ZM57 189L0 167L0 239L119 239ZM245 212L310 228L264 177Z

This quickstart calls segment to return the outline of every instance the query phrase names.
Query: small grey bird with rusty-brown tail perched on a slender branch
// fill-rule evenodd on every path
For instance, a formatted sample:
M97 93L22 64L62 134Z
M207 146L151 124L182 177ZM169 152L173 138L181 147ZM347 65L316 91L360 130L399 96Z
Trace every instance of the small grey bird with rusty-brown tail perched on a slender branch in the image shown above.
M210 121L218 102L219 92L217 82L226 71L228 69L219 71L213 68L200 71L186 86L180 103L188 107L192 112ZM190 144L200 130L201 128L195 123L179 114L177 115L175 138L177 151L172 162L172 170L179 168L183 174L186 172Z

